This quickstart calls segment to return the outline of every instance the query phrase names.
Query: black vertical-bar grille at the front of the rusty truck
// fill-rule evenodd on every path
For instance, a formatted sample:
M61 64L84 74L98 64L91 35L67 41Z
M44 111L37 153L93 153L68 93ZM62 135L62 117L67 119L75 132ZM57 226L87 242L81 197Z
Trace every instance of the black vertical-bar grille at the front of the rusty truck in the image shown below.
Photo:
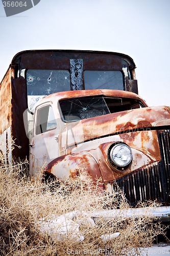
M132 206L138 201L157 201L170 204L170 130L158 131L161 161L116 180Z

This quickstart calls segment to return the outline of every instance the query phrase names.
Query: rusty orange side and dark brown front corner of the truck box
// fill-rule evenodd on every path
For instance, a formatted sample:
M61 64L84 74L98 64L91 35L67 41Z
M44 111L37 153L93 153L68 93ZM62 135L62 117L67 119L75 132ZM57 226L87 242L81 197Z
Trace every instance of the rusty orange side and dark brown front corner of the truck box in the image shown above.
M9 69L0 87L0 134L11 127L10 137L16 145L12 158L23 160L29 158L29 143L23 125L23 112L28 107L27 90L25 79L13 79L12 74L13 70Z

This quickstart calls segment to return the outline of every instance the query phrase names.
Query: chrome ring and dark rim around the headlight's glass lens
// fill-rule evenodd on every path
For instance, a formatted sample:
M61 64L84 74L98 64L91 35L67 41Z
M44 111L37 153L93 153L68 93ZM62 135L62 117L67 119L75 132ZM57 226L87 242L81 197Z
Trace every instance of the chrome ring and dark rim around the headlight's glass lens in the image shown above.
M125 148L129 151L130 157L129 157L128 163L118 164L115 161L114 157L113 157L115 148L117 146L120 146L120 145L121 146L124 145ZM132 163L132 159L133 159L132 150L131 150L130 146L128 144L126 144L125 142L122 142L122 141L116 141L116 142L114 142L110 145L110 147L108 149L108 152L107 152L107 157L108 157L108 160L109 160L109 163L110 163L111 167L113 167L117 170L120 170L120 171L126 170L130 166L130 164Z

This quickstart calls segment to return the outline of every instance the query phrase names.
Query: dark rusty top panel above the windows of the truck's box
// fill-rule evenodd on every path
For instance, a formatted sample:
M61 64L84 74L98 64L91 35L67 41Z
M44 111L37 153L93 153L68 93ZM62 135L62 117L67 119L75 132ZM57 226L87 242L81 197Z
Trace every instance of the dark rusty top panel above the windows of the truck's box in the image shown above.
M41 59L41 61L39 61ZM84 70L122 70L126 60L132 70L136 68L131 57L122 53L76 50L32 50L17 53L12 65L23 69L68 69L70 59L84 59ZM135 77L133 77L135 79Z

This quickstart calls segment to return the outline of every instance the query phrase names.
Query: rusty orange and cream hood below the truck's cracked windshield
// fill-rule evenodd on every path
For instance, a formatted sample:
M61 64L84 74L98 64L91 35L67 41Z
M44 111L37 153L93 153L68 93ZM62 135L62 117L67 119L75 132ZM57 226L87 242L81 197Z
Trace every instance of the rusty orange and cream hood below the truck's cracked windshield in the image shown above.
M170 125L169 106L153 106L67 123L67 145L134 129Z

